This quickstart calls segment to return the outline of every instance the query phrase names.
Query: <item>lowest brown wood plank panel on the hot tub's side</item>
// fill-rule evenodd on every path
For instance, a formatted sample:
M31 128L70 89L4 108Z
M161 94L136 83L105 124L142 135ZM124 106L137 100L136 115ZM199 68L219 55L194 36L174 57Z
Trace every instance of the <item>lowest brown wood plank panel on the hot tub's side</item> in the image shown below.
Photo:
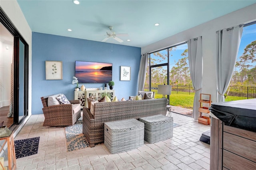
M229 170L255 170L256 162L223 150L223 167ZM224 169L223 168L223 169Z

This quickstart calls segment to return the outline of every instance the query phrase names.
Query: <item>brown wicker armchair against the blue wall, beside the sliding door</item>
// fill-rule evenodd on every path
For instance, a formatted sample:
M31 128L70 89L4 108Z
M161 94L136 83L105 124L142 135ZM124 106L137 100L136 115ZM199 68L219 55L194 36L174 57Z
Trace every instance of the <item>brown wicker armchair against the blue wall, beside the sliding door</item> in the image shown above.
M41 97L45 118L43 126L72 126L81 117L79 100L70 100L71 104L48 106L48 97Z

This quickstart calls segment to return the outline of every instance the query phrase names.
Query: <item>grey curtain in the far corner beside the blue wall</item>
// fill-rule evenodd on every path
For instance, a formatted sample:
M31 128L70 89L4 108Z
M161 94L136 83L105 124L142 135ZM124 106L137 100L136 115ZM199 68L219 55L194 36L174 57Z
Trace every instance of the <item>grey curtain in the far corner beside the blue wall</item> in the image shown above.
M148 65L148 53L145 53L145 54L141 55L141 58L140 58L138 91L144 91L144 83L145 83L145 79L146 79L147 65Z

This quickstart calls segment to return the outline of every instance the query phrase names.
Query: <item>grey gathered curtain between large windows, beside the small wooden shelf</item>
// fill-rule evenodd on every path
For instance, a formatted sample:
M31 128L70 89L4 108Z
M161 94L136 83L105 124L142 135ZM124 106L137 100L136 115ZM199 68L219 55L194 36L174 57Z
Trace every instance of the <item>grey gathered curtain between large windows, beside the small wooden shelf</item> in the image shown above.
M190 76L193 87L196 91L194 96L193 114L192 117L198 120L200 93L202 89L202 75L203 75L203 57L202 57L202 38L188 40L188 63L190 68Z

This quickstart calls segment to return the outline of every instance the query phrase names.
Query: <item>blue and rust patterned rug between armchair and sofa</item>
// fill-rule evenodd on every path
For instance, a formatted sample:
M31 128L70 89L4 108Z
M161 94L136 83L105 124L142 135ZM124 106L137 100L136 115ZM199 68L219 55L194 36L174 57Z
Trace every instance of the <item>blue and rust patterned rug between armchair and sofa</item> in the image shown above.
M89 146L89 142L83 134L83 118L80 117L76 124L65 127L67 151L78 150Z

